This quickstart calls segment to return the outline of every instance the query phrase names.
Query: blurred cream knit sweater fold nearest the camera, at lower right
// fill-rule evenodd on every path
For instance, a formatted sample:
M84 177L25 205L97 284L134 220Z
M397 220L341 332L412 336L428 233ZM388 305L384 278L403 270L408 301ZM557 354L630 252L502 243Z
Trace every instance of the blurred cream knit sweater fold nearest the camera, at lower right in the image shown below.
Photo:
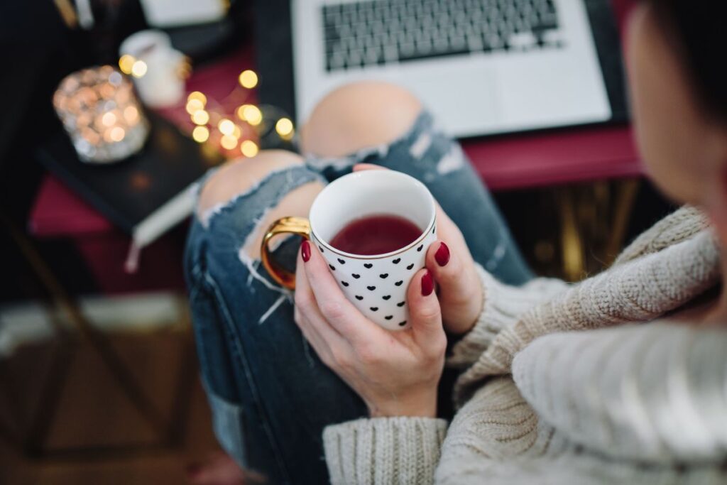
M606 456L719 461L727 444L727 332L664 321L550 334L513 361L542 420Z

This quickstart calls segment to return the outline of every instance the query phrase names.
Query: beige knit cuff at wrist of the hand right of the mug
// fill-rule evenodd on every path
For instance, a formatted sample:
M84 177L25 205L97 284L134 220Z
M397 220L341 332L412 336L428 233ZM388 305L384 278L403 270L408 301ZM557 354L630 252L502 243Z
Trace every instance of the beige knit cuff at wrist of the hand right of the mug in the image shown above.
M494 337L514 324L530 308L549 300L568 288L555 278L534 278L523 286L500 283L481 265L475 265L482 282L483 308L475 325L452 348L447 365L466 367L473 364L489 347Z

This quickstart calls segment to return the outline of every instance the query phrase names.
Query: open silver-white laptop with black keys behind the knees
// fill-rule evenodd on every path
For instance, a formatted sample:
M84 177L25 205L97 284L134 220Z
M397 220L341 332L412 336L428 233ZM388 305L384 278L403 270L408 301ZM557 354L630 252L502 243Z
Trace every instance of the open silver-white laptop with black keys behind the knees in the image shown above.
M611 119L584 0L292 0L298 121L359 79L414 92L451 135Z

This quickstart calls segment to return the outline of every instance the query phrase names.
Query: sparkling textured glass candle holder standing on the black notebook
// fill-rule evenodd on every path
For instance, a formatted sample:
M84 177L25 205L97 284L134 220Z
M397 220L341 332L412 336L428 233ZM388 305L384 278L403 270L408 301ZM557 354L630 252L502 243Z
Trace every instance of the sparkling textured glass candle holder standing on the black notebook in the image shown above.
M149 135L132 83L111 65L66 76L53 106L79 158L88 163L126 159L140 151Z

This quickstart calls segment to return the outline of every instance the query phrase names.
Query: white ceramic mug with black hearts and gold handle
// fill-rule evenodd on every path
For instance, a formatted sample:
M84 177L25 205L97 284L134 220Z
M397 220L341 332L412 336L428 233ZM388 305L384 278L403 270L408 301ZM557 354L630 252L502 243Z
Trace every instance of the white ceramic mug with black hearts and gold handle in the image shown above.
M305 217L283 217L262 239L262 264L278 284L294 289L295 275L273 260L273 236L294 233L315 244L343 294L371 321L385 329L409 327L406 290L414 273L424 268L427 248L436 239L435 202L419 180L401 172L365 170L334 180L318 194ZM411 244L385 254L351 254L329 241L361 217L396 215L422 233Z

